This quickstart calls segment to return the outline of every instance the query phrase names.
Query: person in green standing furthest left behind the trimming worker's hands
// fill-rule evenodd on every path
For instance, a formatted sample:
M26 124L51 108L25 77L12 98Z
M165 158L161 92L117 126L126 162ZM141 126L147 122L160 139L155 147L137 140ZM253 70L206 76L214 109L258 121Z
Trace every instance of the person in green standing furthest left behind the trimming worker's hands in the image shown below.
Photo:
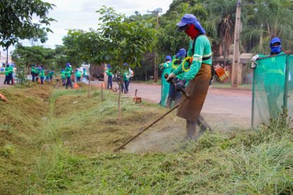
M162 70L162 86L160 89L160 105L166 107L167 99L170 90L170 84L166 81L165 75L170 75L172 70L172 58L171 56L165 57L165 63L159 65L160 70Z

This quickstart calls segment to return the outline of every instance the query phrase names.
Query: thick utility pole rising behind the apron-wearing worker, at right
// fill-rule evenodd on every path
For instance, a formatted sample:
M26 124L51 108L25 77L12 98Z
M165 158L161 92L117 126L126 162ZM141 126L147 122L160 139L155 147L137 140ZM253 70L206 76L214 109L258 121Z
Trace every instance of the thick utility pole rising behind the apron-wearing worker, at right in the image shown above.
M233 63L232 63L232 75L231 75L231 85L232 88L237 88L238 86L238 69L240 64L240 52L239 52L239 42L240 42L240 20L241 15L241 0L236 0L236 19L235 19L235 31L234 31L234 51L233 51Z

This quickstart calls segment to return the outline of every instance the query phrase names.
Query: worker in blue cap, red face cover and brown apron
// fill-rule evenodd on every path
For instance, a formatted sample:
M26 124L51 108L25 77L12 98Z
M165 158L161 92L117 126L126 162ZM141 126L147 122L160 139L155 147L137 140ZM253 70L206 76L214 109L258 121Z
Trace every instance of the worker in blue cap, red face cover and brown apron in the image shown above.
M180 91L188 83L186 92L190 95L190 98L186 96L181 98L177 116L186 119L187 137L197 140L200 134L210 129L209 125L200 116L200 111L202 111L212 75L211 43L195 15L183 15L177 26L179 26L179 31L184 31L191 39L187 53L189 60L184 60L167 77L167 81L184 72L183 79L176 83L176 90ZM200 126L200 132L197 134L196 125Z

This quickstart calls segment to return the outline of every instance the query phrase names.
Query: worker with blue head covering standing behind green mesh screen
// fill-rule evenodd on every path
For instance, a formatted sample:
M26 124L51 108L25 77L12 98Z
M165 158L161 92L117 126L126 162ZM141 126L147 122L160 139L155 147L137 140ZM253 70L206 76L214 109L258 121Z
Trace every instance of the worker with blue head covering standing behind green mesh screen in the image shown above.
M271 48L271 54L272 55L278 55L278 54L285 54L282 52L281 47L282 41L280 38L275 37L271 40L269 47ZM271 57L269 59L266 59L266 64L257 67L257 59L267 57L266 55L257 54L256 56L253 56L251 58L251 61L253 61L251 67L256 68L255 71L257 73L264 74L264 90L266 92L266 100L267 104L269 106L269 118L278 118L280 117L280 114L282 113L280 101L278 101L281 94L283 94L284 88L285 88L285 58L281 59L275 57ZM284 60L284 61L282 61ZM289 75L291 77L291 75ZM289 79L291 79L289 77Z

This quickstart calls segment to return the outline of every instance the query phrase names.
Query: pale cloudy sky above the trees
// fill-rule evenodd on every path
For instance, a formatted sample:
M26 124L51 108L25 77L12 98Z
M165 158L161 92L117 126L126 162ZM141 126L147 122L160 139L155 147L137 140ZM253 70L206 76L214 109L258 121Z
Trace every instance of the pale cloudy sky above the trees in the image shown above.
M53 3L56 7L50 10L49 17L58 22L51 22L50 29L54 33L48 34L45 47L54 48L54 45L61 45L63 36L66 36L67 29L96 29L98 27L98 13L102 6L112 7L117 13L133 15L135 11L140 14L147 14L147 10L162 8L165 13L173 0L43 0ZM162 13L160 13L162 14ZM30 46L29 40L22 40L23 45Z

